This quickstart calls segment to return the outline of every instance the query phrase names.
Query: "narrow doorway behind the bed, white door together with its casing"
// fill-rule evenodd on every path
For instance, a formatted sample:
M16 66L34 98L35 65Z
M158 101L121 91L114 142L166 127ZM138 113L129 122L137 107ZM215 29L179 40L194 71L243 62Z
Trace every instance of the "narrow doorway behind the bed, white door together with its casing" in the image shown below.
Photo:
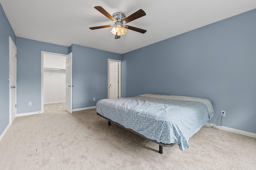
M108 98L121 98L122 61L108 59Z

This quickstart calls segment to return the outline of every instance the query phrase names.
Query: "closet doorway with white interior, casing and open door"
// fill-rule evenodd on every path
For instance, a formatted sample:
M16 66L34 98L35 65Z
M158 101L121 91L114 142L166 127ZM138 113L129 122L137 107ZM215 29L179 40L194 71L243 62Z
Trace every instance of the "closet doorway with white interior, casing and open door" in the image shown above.
M41 53L41 111L44 104L66 103L72 113L72 53Z

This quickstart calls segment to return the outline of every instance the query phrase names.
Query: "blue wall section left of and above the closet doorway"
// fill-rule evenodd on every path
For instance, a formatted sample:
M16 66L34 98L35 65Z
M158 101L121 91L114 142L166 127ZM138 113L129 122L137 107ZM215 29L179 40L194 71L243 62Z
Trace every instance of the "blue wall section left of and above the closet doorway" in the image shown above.
M41 111L41 51L68 54L69 47L20 37L16 46L17 114Z

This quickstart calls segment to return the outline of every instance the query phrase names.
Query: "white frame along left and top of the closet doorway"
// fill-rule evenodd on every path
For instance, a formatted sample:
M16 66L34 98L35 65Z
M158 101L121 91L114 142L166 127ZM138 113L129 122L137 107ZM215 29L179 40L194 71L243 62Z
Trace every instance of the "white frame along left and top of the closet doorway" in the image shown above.
M66 57L66 54L41 51L41 113L44 113L44 54Z

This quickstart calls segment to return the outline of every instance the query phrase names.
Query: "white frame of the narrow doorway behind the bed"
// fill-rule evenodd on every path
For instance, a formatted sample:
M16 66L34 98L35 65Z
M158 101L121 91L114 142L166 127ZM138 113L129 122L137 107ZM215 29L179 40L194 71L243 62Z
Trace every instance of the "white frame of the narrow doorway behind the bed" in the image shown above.
M118 84L118 93L119 93L119 98L122 98L122 61L120 60L114 60L114 59L108 59L108 98L110 98L110 89L109 89L109 76L110 76L110 63L119 63L118 66L118 79L119 79L119 84Z

